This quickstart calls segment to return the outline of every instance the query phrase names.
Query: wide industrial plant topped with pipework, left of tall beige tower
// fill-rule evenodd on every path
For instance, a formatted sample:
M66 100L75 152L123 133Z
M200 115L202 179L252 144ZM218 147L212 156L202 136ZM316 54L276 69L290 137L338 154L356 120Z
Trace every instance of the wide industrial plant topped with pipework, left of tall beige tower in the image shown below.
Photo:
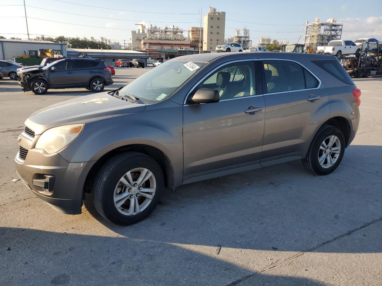
M139 24L141 30L131 31L132 47L134 49L184 49L190 48L190 41L184 36L184 30L179 27L165 26L163 29L150 26L146 29L144 24Z

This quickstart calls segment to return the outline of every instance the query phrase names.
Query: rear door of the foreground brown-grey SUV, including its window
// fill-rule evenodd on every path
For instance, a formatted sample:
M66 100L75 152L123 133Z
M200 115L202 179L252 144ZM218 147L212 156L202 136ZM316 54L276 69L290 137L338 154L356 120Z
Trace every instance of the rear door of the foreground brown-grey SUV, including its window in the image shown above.
M327 96L319 89L320 80L299 63L285 59L259 62L267 107L260 164L296 159L310 145L308 140L318 124L315 116L329 118L329 108L322 109Z

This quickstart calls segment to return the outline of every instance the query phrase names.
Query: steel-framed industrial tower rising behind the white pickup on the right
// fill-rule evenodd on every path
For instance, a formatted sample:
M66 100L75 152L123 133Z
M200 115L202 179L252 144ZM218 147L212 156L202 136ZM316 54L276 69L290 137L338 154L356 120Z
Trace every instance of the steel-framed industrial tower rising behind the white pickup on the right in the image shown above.
M337 24L334 17L328 22L320 22L320 18L316 17L314 22L306 21L304 44L316 50L318 46L327 46L331 40L340 40L341 34L342 24Z

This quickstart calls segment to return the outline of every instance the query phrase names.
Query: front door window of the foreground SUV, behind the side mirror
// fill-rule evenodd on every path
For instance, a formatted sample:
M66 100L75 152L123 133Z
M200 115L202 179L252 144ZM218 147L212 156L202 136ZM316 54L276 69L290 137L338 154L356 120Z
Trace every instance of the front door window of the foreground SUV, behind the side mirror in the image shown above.
M194 90L213 88L219 92L220 100L256 94L254 63L228 64L213 72Z

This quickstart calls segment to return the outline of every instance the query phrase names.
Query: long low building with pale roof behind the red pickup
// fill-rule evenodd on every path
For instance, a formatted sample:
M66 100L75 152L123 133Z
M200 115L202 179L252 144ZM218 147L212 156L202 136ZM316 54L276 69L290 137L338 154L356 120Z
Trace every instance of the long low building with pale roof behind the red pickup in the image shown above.
M67 49L67 56L79 56L81 53L87 53L87 56L104 60L109 66L115 66L115 61L125 59L141 59L147 66L147 53L133 50L97 50L97 49Z

